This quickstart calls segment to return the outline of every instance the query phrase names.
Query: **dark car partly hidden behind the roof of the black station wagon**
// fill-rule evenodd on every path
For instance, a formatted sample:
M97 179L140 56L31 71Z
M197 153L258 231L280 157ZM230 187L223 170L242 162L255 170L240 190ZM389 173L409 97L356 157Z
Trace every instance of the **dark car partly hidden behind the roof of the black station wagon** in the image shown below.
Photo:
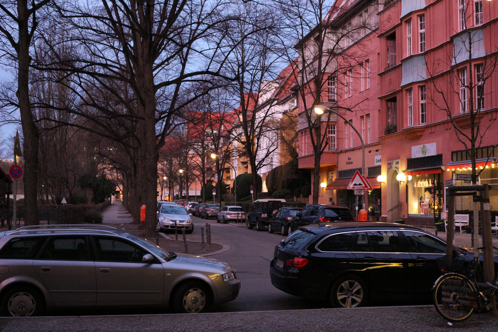
M310 204L303 208L294 222L300 225L311 225L319 222L354 221L355 217L348 208L339 205Z

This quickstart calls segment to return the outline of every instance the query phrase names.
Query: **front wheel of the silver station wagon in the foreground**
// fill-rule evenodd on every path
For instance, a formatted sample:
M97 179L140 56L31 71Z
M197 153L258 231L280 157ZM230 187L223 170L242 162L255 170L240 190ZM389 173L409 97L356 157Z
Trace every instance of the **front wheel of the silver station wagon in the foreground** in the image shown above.
M208 286L191 281L181 285L173 294L172 307L177 314L194 314L209 304Z

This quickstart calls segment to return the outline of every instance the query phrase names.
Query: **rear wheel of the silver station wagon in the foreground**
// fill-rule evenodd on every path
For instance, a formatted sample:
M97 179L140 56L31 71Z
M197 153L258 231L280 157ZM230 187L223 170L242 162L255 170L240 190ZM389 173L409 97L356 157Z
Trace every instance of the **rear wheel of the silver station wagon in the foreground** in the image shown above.
M40 316L45 312L43 295L34 287L13 287L4 294L1 310L3 316Z

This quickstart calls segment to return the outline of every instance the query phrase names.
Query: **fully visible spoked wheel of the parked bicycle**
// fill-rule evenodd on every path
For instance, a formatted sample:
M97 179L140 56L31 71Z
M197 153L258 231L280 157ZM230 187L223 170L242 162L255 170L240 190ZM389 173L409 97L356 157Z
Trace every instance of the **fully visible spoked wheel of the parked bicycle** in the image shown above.
M434 307L449 322L463 322L477 308L474 285L463 275L448 274L442 277L433 293Z

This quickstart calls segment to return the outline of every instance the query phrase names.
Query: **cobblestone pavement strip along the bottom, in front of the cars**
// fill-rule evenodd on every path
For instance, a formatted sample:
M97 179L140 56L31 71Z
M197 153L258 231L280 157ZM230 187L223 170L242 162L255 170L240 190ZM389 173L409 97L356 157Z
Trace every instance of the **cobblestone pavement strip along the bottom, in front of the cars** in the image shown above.
M1 332L496 332L497 326L488 314L449 326L432 306L0 319Z

